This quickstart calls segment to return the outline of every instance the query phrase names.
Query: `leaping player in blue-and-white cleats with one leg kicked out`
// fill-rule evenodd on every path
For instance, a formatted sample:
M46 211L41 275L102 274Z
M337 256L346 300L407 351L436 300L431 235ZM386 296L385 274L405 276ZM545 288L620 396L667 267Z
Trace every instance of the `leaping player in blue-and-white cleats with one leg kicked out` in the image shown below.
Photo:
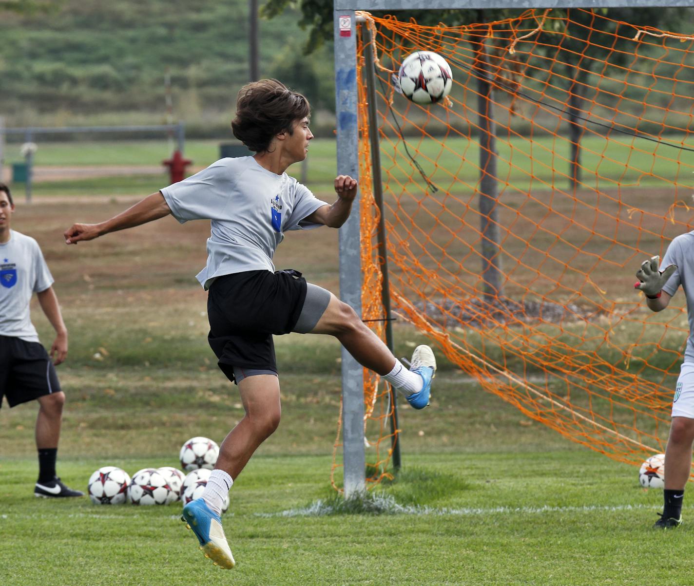
M273 334L335 336L416 409L429 404L436 370L430 347L415 348L408 370L347 304L307 284L298 271L276 271L273 266L285 232L340 227L357 195L357 182L338 175L337 200L330 205L285 172L307 155L313 138L309 115L306 98L277 80L250 83L239 92L232 131L255 155L221 159L108 221L75 224L65 232L65 241L76 244L168 214L181 223L212 221L207 266L197 278L208 290L210 346L219 368L237 384L246 413L222 442L202 498L188 503L182 518L205 555L226 569L235 562L221 526L223 499L280 422Z

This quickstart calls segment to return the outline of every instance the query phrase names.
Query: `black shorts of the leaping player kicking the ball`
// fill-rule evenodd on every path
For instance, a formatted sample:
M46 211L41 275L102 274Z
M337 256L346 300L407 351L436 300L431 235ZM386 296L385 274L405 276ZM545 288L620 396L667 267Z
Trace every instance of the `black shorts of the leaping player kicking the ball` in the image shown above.
M219 368L277 372L273 334L289 334L306 299L306 279L295 270L249 270L218 277L208 291L208 341Z

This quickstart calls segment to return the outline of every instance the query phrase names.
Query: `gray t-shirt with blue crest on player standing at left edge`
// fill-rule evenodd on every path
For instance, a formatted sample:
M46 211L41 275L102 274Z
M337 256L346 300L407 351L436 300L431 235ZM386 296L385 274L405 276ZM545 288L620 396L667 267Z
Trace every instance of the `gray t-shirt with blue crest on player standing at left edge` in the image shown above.
M31 295L53 284L51 271L37 241L10 230L10 240L0 244L0 336L38 342L31 323Z

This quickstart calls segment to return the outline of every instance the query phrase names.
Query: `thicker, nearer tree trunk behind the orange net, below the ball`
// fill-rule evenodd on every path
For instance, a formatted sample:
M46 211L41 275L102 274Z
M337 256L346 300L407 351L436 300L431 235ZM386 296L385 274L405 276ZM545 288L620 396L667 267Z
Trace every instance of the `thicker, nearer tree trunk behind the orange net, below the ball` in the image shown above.
M503 295L499 243L499 186L496 175L496 128L493 120L493 86L488 79L489 59L484 42L476 47L477 120L480 127L480 217L482 230L482 281L484 300L493 303Z

